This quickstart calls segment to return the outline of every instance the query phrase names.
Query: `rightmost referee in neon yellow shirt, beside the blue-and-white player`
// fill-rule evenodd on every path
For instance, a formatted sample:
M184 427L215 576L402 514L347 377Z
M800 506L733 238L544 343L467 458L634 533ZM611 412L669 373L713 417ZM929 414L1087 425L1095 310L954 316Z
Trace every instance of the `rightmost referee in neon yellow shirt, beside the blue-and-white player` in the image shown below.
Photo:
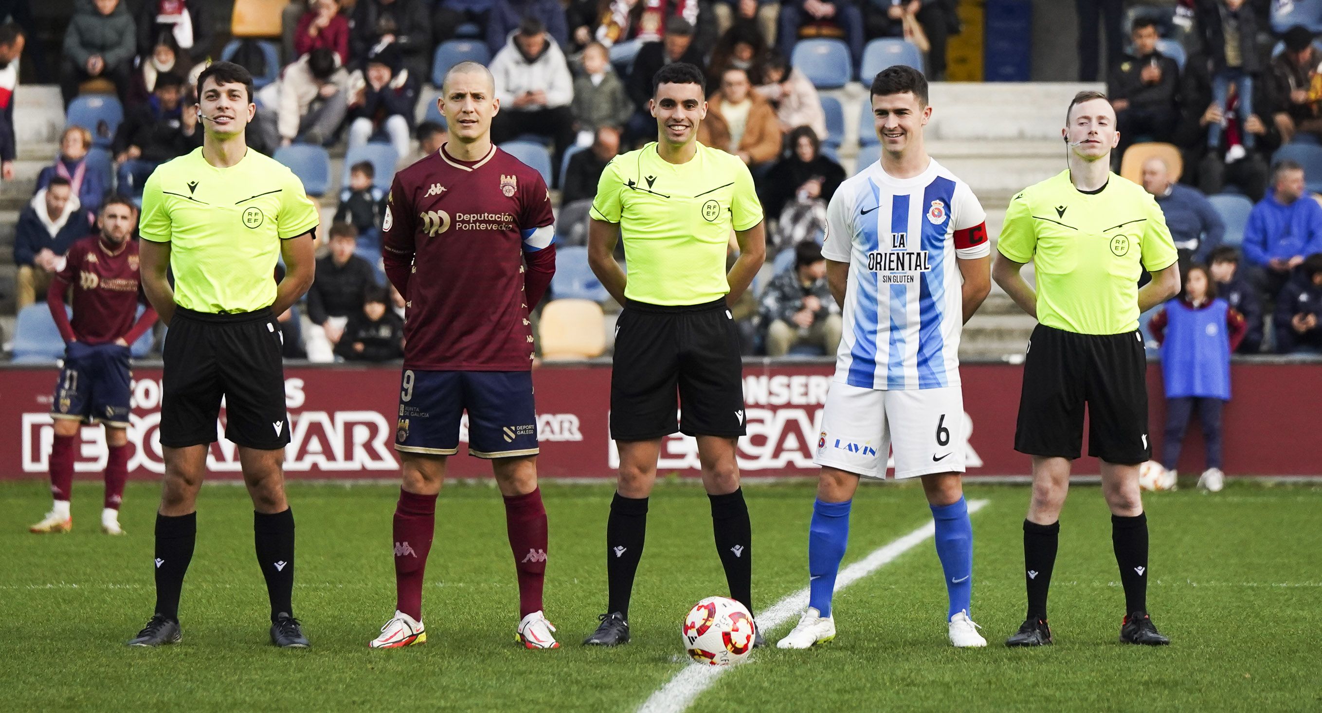
M1051 643L1047 587L1083 446L1101 459L1112 544L1125 589L1120 640L1167 644L1147 616L1147 517L1138 466L1147 442L1147 364L1138 315L1179 291L1166 218L1142 187L1110 172L1120 134L1104 94L1081 91L1066 110L1068 168L1010 201L992 276L1038 319L1023 364L1014 447L1032 456L1032 500L1023 521L1029 616L1007 646ZM1034 263L1036 290L1019 275ZM1151 274L1141 290L1138 278Z

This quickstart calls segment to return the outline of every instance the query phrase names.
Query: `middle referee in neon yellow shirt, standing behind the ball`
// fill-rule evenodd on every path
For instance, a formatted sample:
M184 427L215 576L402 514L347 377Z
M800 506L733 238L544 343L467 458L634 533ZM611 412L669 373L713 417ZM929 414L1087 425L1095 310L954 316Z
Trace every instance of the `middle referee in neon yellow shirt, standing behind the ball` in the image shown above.
M652 87L657 142L605 167L588 231L592 271L624 306L611 372L611 438L620 452L620 479L605 526L609 601L602 624L583 642L590 646L629 640L629 594L642 554L648 496L661 440L677 430L698 439L730 597L752 611L751 525L735 463L744 435L743 361L728 306L752 283L767 254L761 204L742 160L698 143L707 114L702 70L668 65ZM731 230L739 259L727 274ZM628 274L612 257L621 237Z

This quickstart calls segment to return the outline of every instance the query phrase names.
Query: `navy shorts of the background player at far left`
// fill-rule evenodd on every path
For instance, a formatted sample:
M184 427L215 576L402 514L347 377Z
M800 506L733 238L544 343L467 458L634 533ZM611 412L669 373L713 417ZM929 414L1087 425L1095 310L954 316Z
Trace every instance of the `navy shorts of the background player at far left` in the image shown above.
M128 347L74 341L59 369L50 415L127 429L130 378Z

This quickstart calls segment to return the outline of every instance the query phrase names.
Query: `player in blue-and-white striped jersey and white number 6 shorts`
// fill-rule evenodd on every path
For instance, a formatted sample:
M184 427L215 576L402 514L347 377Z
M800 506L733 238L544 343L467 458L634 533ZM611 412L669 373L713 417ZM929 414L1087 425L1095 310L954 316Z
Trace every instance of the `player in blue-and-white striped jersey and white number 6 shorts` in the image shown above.
M845 181L826 209L826 280L843 310L836 377L814 462L822 467L808 533L809 601L776 644L836 636L832 591L861 478L920 478L936 523L951 643L984 647L970 616L973 528L960 474L968 433L960 332L992 290L986 213L968 184L927 155L923 73L892 66L871 86L880 160ZM961 284L962 280L962 284Z

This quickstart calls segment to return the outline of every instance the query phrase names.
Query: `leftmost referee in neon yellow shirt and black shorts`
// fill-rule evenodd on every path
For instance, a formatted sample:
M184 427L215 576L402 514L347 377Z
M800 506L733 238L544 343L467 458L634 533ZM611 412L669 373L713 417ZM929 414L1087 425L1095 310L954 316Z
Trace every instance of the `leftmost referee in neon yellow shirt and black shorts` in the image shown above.
M319 216L288 168L245 144L253 75L215 62L197 78L202 147L164 163L143 188L143 288L169 324L163 358L156 515L156 611L130 646L180 640L178 597L197 537L197 491L215 440L239 447L253 496L258 562L271 601L271 643L307 648L293 618L293 513L284 499L284 369L276 316L312 284ZM275 282L276 259L284 279ZM167 280L173 269L175 286Z

